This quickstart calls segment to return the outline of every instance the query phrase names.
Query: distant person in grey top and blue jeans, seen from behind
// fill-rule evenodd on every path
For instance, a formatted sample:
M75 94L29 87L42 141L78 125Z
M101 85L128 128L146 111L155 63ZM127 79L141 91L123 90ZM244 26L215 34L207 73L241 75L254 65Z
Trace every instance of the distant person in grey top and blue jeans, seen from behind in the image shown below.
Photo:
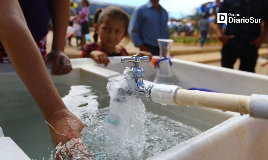
M203 47L207 38L207 32L209 30L209 22L207 19L207 15L204 15L203 18L198 22L198 26L201 33L200 46Z

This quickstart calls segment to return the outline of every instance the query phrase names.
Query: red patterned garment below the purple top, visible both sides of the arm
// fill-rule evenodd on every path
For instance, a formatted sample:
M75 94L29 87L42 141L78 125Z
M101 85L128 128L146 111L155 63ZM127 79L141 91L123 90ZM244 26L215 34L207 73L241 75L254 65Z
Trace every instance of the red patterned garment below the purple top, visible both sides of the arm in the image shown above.
M40 41L36 42L43 58L47 55L46 52L46 37L42 38ZM0 63L10 63L10 60L8 58L8 55L5 51L4 46L2 45L0 41Z

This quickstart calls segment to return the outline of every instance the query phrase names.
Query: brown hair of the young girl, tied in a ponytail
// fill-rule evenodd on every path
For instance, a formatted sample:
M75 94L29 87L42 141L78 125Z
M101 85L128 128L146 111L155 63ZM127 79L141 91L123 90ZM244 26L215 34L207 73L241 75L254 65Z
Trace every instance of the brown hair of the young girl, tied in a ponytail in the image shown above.
M129 34L127 31L128 26L129 26L129 15L124 10L115 6L109 6L105 9L98 8L95 11L94 24L97 24L97 26L99 27L101 23L103 23L108 18L117 18L117 19L123 20L125 22L125 29L126 29L124 33L125 35L124 37L129 38ZM93 38L95 42L98 41L97 31L95 31Z

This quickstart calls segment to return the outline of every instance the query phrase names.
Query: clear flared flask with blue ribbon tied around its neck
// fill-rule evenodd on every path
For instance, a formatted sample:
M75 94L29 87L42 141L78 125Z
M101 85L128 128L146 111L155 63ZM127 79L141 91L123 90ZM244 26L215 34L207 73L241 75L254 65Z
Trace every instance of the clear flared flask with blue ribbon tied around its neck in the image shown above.
M181 86L178 78L172 73L170 68L172 63L170 62L169 57L173 40L158 39L158 44L160 48L159 60L158 60L159 68L157 70L154 83Z

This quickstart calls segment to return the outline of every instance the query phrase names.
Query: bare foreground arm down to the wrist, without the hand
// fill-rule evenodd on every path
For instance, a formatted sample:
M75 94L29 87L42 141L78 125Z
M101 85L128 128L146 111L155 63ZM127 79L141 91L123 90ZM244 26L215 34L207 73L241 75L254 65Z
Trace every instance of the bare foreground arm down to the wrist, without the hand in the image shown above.
M48 119L52 113L66 107L48 74L18 1L0 2L7 5L0 7L0 40L17 74Z

